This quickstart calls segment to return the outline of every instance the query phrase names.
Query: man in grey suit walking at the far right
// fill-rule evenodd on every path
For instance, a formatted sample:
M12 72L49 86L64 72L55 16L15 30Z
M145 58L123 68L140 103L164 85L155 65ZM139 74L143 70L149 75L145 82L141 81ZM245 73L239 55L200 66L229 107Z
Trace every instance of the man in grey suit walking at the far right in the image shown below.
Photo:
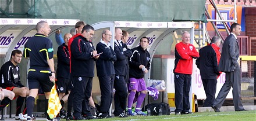
M241 94L241 69L238 63L239 46L237 43L237 36L241 33L240 24L233 23L230 27L231 34L227 36L223 43L221 60L219 61L219 71L226 73L226 82L222 86L219 94L212 104L215 112L220 112L223 102L231 87L233 87L233 102L235 111L246 111L242 105Z

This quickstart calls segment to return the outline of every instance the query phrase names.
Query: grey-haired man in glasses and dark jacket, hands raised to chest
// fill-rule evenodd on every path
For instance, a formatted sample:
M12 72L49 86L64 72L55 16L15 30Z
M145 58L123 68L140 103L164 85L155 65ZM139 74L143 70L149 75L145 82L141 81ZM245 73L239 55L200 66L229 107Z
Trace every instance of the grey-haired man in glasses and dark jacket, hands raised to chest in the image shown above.
M108 109L111 106L113 98L113 83L115 79L115 69L113 62L116 61L116 53L110 45L112 38L111 31L104 30L101 34L102 39L97 44L96 50L102 53L96 61L97 75L99 78L99 86L101 88L101 107L99 109L98 118L110 118Z

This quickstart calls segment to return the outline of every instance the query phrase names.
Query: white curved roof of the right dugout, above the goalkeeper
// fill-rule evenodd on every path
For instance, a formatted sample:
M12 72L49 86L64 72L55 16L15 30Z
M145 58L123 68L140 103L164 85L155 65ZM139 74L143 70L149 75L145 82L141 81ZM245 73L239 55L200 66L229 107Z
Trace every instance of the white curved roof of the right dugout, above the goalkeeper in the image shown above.
M111 46L114 45L115 28L129 32L127 46L133 48L138 46L140 38L147 36L150 39L150 45L147 47L151 54L151 60L155 50L163 39L172 32L187 30L191 37L194 38L194 22L141 22L141 21L102 21L92 25L95 29L93 44L94 46L101 40L102 31L107 29L112 32ZM179 32L181 33L181 32ZM193 44L194 39L190 43ZM145 78L150 77L150 73Z

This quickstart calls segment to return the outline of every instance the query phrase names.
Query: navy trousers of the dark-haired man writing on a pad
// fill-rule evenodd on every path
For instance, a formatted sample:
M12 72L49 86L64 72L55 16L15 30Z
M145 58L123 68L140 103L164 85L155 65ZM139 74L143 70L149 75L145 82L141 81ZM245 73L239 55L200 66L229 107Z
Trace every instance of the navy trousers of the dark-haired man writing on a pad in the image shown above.
M91 96L91 88L93 84L92 77L73 77L73 116L79 118L81 114L91 115L89 108L89 98Z

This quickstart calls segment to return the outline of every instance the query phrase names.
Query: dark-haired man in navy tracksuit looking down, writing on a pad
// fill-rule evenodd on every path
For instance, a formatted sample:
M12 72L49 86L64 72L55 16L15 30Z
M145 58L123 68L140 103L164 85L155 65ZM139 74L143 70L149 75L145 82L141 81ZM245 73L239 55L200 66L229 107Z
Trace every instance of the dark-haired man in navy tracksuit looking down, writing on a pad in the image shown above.
M71 43L71 75L73 88L73 116L75 120L95 119L88 106L94 77L94 61L99 57L94 50L94 28L85 25L82 33ZM82 108L83 107L83 108ZM82 116L82 114L84 116Z

